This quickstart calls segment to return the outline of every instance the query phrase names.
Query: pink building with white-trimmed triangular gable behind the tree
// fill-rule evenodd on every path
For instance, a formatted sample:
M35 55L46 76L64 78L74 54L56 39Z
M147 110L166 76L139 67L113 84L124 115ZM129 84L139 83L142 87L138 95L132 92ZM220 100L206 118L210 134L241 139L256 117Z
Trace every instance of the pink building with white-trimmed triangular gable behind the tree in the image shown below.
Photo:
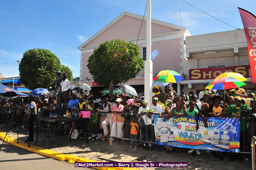
M99 93L104 87L97 87L92 75L87 68L87 60L93 53L94 48L106 40L124 39L126 42L136 43L143 16L123 12L108 25L102 28L94 36L84 42L78 49L81 51L80 81L89 84L93 93ZM158 56L153 59L153 75L161 70L175 70L183 73L183 62L185 61L186 36L190 36L187 28L169 24L152 19L152 52L158 51ZM140 55L146 57L146 18L144 18L137 45L140 48ZM99 70L100 71L100 70ZM107 73L106 73L107 74ZM76 84L76 83L75 83ZM126 82L132 85L138 95L144 95L144 70L136 78ZM175 85L174 85L175 86ZM178 84L178 91L180 84Z

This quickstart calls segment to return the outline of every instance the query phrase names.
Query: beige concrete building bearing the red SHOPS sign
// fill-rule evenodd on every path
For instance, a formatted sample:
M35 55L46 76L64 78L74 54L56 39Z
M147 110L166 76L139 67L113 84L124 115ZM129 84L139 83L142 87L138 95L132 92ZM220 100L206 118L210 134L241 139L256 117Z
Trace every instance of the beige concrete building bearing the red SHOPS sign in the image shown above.
M248 81L244 89L255 90L251 83L247 42L244 30L215 32L186 37L185 80L182 92L198 95L204 83L210 83L221 73L238 72Z

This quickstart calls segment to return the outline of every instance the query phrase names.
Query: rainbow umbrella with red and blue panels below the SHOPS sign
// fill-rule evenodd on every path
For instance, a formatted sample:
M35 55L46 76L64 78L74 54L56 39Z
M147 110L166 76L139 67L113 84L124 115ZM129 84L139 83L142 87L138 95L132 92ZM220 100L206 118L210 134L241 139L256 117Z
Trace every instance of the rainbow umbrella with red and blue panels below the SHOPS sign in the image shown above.
M225 89L234 89L239 88L245 85L244 82L232 78L232 77L222 77L215 79L214 81L210 82L205 89L209 90L225 90Z

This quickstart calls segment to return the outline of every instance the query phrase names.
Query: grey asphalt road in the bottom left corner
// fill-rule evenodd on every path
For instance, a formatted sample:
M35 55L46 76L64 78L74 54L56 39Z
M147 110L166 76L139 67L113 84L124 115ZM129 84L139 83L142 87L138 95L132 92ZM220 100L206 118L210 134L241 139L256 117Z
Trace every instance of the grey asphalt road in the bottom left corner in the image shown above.
M0 140L0 147L2 145ZM4 143L0 151L1 169L8 170L70 170L76 169L75 165L65 161L59 161L52 158L44 157L39 154L29 152L25 149L15 147ZM83 168L85 169L85 168ZM90 168L86 168L90 169Z

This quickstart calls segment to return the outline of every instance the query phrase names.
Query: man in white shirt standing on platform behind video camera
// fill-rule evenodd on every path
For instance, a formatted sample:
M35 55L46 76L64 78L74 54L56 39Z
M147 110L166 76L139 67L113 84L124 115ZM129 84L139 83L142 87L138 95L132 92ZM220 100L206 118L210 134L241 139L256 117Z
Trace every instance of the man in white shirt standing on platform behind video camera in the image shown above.
M63 81L60 83L62 93L60 93L59 115L65 115L66 110L67 110L68 93L71 90L70 81L67 79L67 77L68 77L68 74L63 73ZM65 103L65 101L66 101L66 103ZM63 105L62 105L62 110L61 110L62 103L63 103Z

